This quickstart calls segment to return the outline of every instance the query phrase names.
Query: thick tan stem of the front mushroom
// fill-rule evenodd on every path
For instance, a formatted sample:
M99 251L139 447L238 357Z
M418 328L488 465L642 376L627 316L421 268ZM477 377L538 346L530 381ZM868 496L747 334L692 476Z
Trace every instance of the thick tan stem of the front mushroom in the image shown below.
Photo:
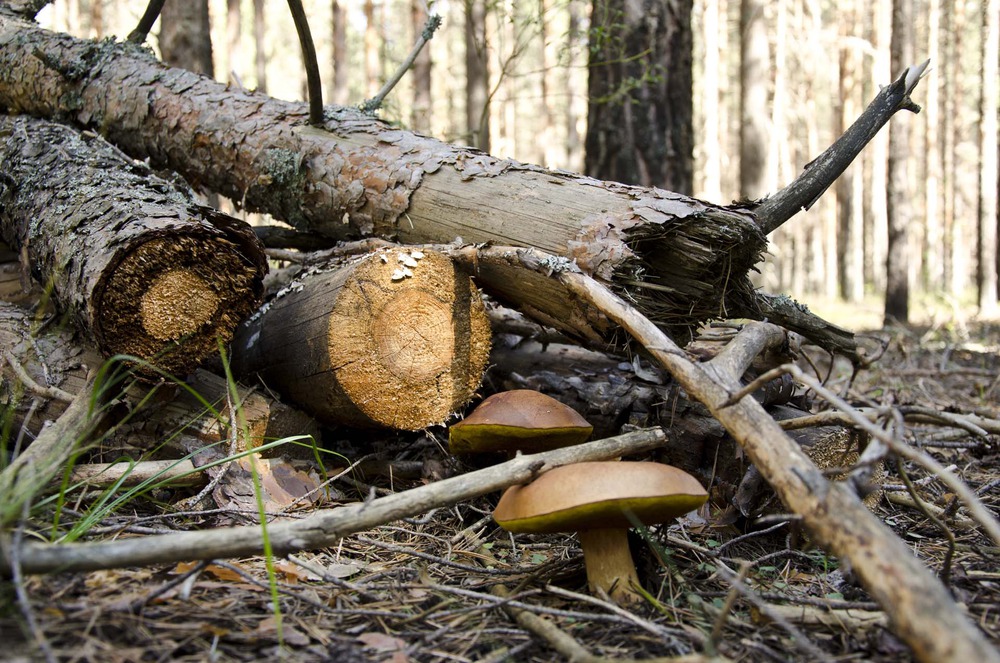
M603 590L619 605L641 602L643 597L635 590L640 586L639 575L628 547L628 529L588 529L578 536L590 591L600 596L598 589Z

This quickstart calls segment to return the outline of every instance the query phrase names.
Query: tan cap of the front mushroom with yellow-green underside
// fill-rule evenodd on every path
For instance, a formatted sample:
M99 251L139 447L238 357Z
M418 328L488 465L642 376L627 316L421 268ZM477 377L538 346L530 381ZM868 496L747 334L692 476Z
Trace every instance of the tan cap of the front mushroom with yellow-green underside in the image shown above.
M629 528L672 520L707 499L697 479L670 465L576 463L508 488L493 519L509 532L538 534Z

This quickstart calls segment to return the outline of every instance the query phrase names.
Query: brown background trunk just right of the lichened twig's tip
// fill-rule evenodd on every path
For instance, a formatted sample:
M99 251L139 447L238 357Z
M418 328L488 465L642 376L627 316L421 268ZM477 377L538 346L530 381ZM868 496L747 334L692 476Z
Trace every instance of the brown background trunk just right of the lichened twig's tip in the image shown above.
M467 142L490 151L490 72L486 0L465 0L465 121Z

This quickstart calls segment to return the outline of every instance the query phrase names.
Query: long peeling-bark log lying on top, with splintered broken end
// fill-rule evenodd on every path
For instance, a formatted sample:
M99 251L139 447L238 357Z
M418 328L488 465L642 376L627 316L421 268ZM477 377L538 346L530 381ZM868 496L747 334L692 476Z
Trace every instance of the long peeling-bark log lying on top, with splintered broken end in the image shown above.
M39 57L44 53L44 57ZM75 66L90 63L85 71ZM705 319L767 317L859 359L853 335L787 298L757 293L748 273L766 233L809 206L901 108L922 68L887 86L845 138L759 209L723 207L491 157L400 131L350 108L322 128L303 103L237 90L172 69L145 51L95 44L0 16L0 103L65 117L136 158L182 173L251 210L335 239L536 248L575 262L686 340ZM107 90L115 90L108 95ZM480 283L577 338L616 326L561 284L513 263L484 263Z

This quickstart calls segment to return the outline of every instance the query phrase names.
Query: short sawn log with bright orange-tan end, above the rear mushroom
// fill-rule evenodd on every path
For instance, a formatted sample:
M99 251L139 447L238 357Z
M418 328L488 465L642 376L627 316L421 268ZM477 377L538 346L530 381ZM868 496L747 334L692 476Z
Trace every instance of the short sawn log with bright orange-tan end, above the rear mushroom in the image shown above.
M233 368L333 424L419 430L478 389L490 326L479 291L431 251L314 266L233 339Z

